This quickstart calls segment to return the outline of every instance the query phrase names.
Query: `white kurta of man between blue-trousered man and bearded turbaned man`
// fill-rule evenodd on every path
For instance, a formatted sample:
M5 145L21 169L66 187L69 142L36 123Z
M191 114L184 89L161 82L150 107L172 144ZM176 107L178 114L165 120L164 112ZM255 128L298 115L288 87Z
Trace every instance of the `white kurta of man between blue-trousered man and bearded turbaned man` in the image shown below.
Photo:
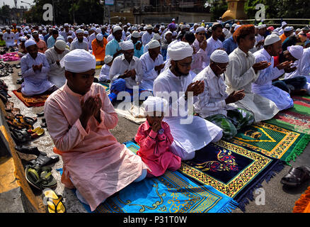
M149 56L149 52L146 52L140 57L140 60L143 70L141 88L153 91L154 80L159 76L159 73L154 70L154 67L163 64L163 56L159 54L154 61Z

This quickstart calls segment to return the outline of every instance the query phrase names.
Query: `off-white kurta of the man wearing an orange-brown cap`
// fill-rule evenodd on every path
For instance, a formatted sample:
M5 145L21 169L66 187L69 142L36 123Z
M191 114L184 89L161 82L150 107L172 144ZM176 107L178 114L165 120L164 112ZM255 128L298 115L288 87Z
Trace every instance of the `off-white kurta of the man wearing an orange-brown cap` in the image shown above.
M259 94L252 92L251 84L258 79L259 72L256 74L253 65L255 57L251 52L246 54L239 48L236 48L229 55L229 66L226 70L226 92L244 89L246 96L240 101L236 101L234 105L241 109L246 109L254 114L256 122L264 121L272 118L277 114L279 109L277 105L270 99L266 99Z

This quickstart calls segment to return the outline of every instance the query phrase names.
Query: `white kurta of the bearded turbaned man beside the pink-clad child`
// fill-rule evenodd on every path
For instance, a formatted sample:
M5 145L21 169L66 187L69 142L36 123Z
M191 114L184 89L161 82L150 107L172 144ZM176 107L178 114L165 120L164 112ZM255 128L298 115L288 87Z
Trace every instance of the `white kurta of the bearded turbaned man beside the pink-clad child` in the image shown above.
M171 128L174 143L185 153L193 153L209 144L214 138L222 135L222 128L198 116L188 116L188 109L185 109L188 101L184 100L184 92L192 82L192 77L176 77L170 69L164 70L154 81L154 95L161 96L161 92L173 94L177 92L177 100L169 100L169 116L165 116L163 121ZM180 93L179 93L180 92ZM176 106L175 106L176 105ZM193 107L193 106L192 106ZM177 115L172 115L178 109ZM189 118L191 123L183 121Z

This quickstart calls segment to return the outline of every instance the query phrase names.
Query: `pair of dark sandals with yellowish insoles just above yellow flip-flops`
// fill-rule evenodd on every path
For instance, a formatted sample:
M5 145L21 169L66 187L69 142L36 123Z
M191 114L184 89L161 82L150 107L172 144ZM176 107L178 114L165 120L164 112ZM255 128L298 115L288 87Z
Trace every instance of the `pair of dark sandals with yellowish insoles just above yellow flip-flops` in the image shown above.
M47 189L57 187L57 181L52 176L51 167L32 167L28 165L25 169L25 179L36 189Z

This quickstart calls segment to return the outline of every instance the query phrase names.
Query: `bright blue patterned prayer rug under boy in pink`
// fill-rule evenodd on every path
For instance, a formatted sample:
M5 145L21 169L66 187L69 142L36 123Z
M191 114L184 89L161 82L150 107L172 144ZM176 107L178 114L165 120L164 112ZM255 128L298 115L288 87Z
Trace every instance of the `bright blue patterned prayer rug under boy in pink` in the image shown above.
M139 145L129 141L137 153ZM94 213L229 213L238 204L211 186L200 186L181 175L167 171L161 177L132 183L110 196ZM84 207L90 212L89 206Z

